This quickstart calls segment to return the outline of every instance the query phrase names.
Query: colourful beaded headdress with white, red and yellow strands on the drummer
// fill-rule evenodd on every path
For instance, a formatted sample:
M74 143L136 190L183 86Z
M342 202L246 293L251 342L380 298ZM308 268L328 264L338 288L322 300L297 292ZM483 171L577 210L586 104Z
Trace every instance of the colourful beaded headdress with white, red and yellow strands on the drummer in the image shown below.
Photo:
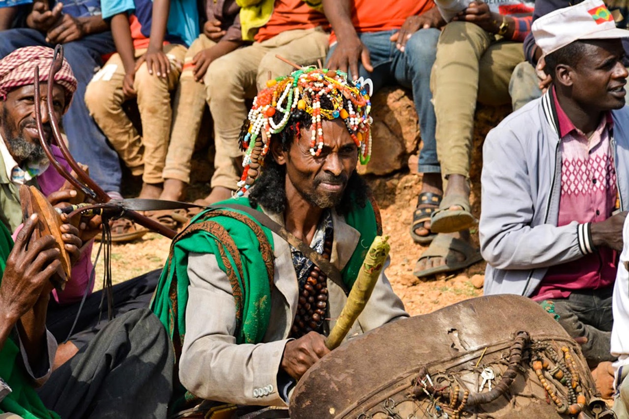
M284 130L291 113L297 111L304 111L312 118L310 153L313 156L321 154L324 144L321 120L341 118L359 148L360 163L367 164L371 157L372 90L370 79L361 77L352 82L345 72L316 67L301 67L288 76L267 81L267 88L253 99L243 126L246 133L241 135L240 147L245 150L244 171L237 196L242 196L255 182L274 134Z

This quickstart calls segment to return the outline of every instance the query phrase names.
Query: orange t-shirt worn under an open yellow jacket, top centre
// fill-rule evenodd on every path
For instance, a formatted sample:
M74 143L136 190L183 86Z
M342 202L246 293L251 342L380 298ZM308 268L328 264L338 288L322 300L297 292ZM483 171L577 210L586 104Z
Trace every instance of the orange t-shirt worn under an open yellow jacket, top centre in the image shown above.
M323 13L311 8L303 0L276 0L269 21L258 30L253 40L262 42L284 31L316 26L330 26Z

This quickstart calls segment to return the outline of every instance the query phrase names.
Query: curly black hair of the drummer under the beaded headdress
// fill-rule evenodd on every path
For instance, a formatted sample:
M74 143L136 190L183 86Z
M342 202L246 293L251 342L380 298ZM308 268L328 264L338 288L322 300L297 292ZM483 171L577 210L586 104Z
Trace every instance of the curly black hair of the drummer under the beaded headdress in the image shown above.
M327 109L331 109L329 99L323 96L321 97L321 108L326 109L326 105L328 106ZM281 113L274 115L276 123L279 123L281 118ZM310 128L311 125L311 116L298 109L291 113L284 130L274 135L274 141L279 141L282 145L282 150L288 151L292 143L294 143L295 137L300 135L299 130L301 128ZM286 190L284 189L286 166L277 164L272 153L269 152L264 158L262 167L260 175L250 189L249 200L252 206L261 204L272 213L283 213L286 210ZM341 215L347 215L352 211L353 203L358 204L360 208L364 208L368 194L369 187L367 183L354 171L348 179L343 197L336 208L337 212Z

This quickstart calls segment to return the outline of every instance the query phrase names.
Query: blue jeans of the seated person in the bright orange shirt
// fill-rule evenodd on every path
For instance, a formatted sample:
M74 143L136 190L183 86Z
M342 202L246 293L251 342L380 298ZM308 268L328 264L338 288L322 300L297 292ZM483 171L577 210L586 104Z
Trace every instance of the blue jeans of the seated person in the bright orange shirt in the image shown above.
M413 102L420 120L421 140L424 142L418 162L420 173L440 173L435 140L435 109L431 103L430 72L437 55L440 31L435 28L421 29L413 33L404 52L396 48L389 38L397 30L359 33L362 43L369 48L372 73L360 65L359 76L370 77L374 91L384 84L400 84L413 91ZM330 48L328 59L336 44Z

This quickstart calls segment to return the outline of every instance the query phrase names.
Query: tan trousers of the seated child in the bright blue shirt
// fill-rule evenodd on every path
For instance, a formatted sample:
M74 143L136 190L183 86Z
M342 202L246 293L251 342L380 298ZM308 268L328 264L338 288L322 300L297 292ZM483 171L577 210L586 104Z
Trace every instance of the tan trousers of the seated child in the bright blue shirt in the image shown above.
M136 50L140 57L146 50ZM135 73L133 87L137 92L138 109L142 120L142 137L133 127L122 108L125 102L122 86L125 68L120 55L115 53L87 85L85 102L89 112L101 127L131 173L142 174L145 183L164 181L162 170L170 136L170 91L181 73L181 63L186 55L182 45L165 45L164 52L170 59L170 73L165 79L148 74L146 64Z

